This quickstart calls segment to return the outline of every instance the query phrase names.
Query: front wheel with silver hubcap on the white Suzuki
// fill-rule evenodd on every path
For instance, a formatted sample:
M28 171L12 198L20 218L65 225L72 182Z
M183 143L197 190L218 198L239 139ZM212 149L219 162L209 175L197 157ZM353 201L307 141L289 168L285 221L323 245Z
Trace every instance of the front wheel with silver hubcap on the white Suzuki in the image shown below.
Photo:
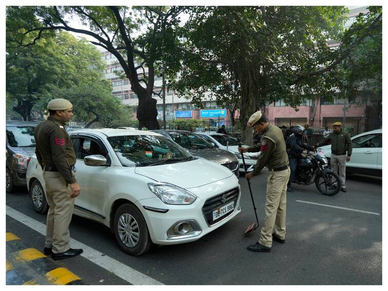
M117 209L114 232L120 248L132 256L139 256L152 247L144 217L132 204L123 204Z

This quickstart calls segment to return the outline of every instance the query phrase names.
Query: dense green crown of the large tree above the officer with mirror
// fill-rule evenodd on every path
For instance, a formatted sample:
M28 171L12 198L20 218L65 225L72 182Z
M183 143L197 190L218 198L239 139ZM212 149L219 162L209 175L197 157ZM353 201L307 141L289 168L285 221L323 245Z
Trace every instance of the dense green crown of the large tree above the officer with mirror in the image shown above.
M211 90L232 114L239 108L243 138L249 139L247 120L266 104L283 99L296 109L306 98L344 87L334 69L371 33L369 28L378 29L379 17L379 11L370 14L344 34L346 11L338 6L188 7L190 19L180 30L184 69L172 87L189 90L197 106ZM328 40L342 45L330 49Z

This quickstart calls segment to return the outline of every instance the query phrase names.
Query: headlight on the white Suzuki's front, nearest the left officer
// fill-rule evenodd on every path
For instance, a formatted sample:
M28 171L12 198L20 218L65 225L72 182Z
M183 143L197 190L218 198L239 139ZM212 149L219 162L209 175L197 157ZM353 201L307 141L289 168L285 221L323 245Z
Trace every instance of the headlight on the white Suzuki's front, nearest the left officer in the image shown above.
M170 183L148 183L148 188L165 204L190 205L197 196Z

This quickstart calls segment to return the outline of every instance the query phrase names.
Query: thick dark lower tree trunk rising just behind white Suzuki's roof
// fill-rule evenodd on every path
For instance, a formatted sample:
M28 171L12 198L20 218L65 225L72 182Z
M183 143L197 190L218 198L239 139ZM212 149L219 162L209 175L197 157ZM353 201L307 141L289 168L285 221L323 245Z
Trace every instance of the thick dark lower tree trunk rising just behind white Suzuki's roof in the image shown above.
M138 96L139 106L137 107L136 117L139 120L139 130L158 130L159 122L157 120L158 111L156 110L156 99L146 96Z

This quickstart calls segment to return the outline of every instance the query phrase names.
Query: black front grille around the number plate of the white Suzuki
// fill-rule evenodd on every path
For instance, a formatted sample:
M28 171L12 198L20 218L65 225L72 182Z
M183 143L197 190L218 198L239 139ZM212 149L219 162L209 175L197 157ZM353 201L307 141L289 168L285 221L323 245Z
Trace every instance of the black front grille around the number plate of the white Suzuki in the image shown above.
M216 196L213 196L207 199L204 206L202 207L202 212L204 213L205 220L208 223L208 225L212 226L217 222L224 220L229 215L231 215L234 212L234 210L236 210L236 208L234 208L233 211L225 214L224 216L219 217L219 219L213 221L213 210L216 210L218 207L228 204L232 201L234 201L234 207L236 207L237 198L238 198L238 188L234 188L232 190L229 190L227 192L218 194Z

